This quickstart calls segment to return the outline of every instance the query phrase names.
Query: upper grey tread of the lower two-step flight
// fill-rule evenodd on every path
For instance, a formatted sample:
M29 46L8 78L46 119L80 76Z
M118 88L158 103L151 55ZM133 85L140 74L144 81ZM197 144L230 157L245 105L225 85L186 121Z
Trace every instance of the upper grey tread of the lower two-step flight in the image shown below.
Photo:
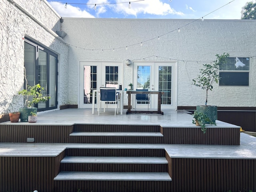
M165 157L66 156L61 163L168 164Z

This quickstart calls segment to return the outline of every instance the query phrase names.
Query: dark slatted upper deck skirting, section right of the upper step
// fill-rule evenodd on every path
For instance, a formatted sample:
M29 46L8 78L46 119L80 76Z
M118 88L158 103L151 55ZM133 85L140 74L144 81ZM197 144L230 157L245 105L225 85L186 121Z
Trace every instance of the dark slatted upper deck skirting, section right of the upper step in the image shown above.
M162 128L164 144L240 145L240 128Z

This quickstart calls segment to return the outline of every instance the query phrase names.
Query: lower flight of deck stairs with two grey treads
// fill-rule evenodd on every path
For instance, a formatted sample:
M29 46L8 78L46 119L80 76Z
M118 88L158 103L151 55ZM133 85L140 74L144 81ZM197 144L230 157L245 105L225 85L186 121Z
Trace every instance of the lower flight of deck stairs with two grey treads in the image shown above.
M60 173L54 178L56 182L84 181L88 186L90 182L130 181L139 186L140 182L156 185L154 182L172 181L164 149L70 148L66 155L61 161ZM124 190L120 184L113 185Z

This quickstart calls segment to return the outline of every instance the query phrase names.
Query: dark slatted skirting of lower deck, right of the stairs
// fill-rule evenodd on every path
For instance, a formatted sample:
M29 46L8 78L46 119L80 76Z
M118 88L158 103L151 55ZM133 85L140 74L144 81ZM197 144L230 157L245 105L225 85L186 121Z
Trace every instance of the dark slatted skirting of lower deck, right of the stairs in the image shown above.
M172 158L170 191L255 191L255 172L256 160Z

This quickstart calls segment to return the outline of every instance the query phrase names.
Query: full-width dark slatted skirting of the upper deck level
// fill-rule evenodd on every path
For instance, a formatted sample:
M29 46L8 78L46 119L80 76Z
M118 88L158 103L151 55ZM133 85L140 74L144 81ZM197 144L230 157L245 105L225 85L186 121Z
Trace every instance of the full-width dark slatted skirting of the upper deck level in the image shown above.
M74 131L84 132L161 132L157 136L70 136ZM155 144L212 144L240 145L240 128L200 127L162 128L143 125L0 125L0 142L36 143L155 143Z

